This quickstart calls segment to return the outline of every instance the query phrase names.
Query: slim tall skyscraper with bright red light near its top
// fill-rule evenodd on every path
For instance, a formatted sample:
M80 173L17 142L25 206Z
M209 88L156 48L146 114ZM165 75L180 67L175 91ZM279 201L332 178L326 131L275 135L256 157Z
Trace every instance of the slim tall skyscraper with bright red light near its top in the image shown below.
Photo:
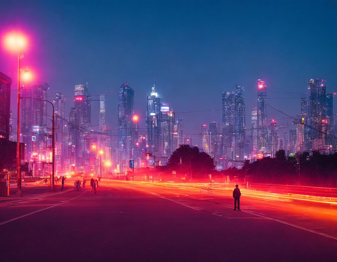
M267 153L267 86L257 79L257 151Z

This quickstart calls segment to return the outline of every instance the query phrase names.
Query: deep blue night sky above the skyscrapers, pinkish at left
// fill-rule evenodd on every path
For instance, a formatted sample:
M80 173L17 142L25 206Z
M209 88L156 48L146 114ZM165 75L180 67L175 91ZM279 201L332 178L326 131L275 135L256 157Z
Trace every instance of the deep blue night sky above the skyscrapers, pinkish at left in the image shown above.
M30 68L33 79L25 85L48 81L49 99L57 91L66 96L66 117L74 85L88 82L97 100L100 93L118 94L125 76L135 91L135 113L144 117L154 77L159 96L176 112L221 109L222 91L244 86L249 128L258 77L268 98L300 98L275 92L305 93L310 78L327 79L327 91L337 89L336 11L336 1L2 1L0 34L28 36L22 68ZM0 71L13 79L12 89L16 66L16 55L1 43ZM16 91L11 94L15 116ZM108 129L117 128L117 101L106 97ZM300 114L300 99L268 103ZM98 104L92 102L93 125ZM221 111L180 117L186 133L222 121ZM268 108L269 120L281 118ZM140 123L145 127L144 119Z

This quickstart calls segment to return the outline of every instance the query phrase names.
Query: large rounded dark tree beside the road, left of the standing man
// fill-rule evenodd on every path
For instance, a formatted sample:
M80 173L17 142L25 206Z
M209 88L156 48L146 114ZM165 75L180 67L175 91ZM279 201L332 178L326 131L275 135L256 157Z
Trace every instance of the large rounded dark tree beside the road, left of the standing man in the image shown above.
M181 158L181 166L180 166ZM205 152L199 152L197 146L180 145L172 156L168 159L166 168L176 170L182 173L190 174L192 170L193 176L207 176L209 172L214 170L214 161L210 155Z

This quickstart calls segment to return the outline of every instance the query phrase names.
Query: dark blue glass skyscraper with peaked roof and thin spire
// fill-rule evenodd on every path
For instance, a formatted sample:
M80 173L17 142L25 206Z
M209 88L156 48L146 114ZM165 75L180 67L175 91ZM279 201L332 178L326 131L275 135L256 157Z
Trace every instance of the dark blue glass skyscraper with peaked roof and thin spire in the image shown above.
M125 82L120 86L118 99L119 170L126 172L129 160L135 160L138 119L134 118L134 91ZM135 161L137 162L137 161Z

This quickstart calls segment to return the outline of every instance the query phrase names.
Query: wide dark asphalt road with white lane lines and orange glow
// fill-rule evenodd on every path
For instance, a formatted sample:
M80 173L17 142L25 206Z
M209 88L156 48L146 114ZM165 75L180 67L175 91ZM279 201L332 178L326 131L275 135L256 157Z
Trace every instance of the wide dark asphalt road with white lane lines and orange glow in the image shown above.
M88 186L88 185L87 185ZM336 261L337 214L113 182L0 202L0 261Z

